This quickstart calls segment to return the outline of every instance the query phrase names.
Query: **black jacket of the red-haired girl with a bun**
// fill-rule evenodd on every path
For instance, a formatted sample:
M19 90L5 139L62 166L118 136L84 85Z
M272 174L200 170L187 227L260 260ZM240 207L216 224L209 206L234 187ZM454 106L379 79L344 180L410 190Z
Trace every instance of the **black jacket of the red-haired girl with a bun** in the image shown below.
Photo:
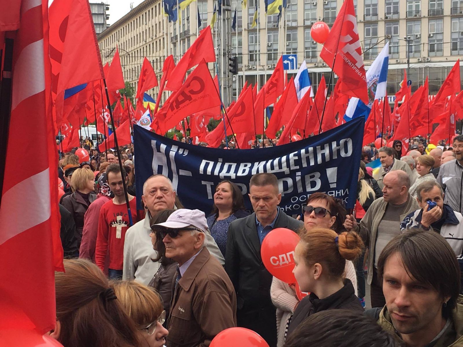
M313 293L304 297L294 311L293 318L289 323L288 336L308 316L320 311L334 309L350 310L352 312L357 312L359 316L363 314L362 304L360 304L360 300L355 295L354 286L352 282L350 282L350 279L344 279L344 287L324 299L320 300Z

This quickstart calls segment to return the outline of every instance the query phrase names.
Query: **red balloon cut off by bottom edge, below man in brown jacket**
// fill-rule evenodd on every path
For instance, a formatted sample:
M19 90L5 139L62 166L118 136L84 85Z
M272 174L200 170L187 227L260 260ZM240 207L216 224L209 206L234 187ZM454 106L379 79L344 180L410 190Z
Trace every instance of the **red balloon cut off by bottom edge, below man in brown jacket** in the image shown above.
M246 328L228 328L215 335L210 347L269 347L261 335Z

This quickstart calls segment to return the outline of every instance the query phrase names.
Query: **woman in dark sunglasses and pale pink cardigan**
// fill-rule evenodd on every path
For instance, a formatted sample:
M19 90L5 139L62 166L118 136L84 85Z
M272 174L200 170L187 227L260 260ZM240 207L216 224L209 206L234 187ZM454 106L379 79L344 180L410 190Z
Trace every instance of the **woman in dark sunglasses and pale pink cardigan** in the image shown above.
M328 194L317 192L310 195L307 205L302 207L302 213L304 228L299 231L301 237L314 228L332 229L337 234L344 231L346 211L338 200ZM357 295L357 274L352 261L345 262L344 273L344 277L352 282ZM274 277L270 287L270 297L276 307L277 347L282 347L289 321L299 305L295 284L288 285Z

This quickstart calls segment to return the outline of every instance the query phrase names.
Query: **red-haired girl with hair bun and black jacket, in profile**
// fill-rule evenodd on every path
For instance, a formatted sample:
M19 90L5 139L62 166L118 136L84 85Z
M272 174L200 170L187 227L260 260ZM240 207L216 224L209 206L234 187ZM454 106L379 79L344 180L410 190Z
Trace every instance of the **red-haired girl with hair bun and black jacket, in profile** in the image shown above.
M314 313L344 309L363 313L362 304L349 279L344 278L346 260L355 260L363 242L353 231L337 234L332 229L314 228L300 235L294 251L294 277L301 291L309 291L294 311L288 336Z

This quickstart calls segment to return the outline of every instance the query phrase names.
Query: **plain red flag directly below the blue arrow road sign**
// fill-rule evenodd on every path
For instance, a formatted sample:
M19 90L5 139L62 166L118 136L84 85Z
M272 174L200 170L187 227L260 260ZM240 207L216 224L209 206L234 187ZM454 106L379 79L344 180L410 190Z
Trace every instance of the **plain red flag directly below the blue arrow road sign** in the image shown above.
M288 123L294 105L297 105L297 93L296 87L294 86L294 79L291 77L291 80L289 80L283 91L282 97L278 100L273 109L272 118L270 118L269 125L265 130L267 137L274 139L276 132L280 130L283 125Z

